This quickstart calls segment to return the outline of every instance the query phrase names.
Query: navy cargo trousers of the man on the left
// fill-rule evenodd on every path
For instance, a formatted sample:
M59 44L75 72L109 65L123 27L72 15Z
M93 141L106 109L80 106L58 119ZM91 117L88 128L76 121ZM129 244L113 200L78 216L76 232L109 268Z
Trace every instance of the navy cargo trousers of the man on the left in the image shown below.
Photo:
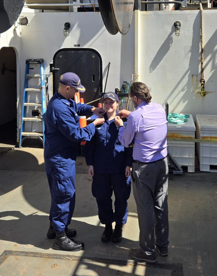
M75 208L75 164L67 167L47 167L51 191L49 219L54 231L61 233L71 223Z

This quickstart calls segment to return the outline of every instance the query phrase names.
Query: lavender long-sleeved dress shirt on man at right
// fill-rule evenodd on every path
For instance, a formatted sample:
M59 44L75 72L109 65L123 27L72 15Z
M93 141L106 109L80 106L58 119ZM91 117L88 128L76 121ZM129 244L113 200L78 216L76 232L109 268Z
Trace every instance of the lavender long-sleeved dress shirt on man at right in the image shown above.
M142 102L127 119L126 129L119 129L119 141L125 147L133 141L133 159L152 162L167 155L167 120L163 107Z

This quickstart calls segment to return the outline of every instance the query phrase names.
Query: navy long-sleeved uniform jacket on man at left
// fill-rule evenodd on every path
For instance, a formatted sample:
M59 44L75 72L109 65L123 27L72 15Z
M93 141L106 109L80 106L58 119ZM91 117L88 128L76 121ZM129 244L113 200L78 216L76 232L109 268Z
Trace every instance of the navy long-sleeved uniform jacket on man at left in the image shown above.
M56 91L46 111L44 162L48 166L69 166L75 163L78 145L89 141L95 133L93 123L80 128L79 116L91 115L91 106L76 104Z

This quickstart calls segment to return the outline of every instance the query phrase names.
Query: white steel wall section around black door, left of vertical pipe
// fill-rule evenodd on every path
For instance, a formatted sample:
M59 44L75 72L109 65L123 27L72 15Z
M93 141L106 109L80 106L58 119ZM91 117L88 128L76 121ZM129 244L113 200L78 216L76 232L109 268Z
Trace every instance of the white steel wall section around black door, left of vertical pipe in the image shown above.
M133 74L133 28L126 36L109 34L104 27L100 13L44 13L22 14L29 19L28 26L22 27L21 88L24 85L24 67L27 58L44 58L45 73L51 73L49 64L54 54L62 48L80 47L96 49L102 56L103 80L105 82L108 62L111 62L106 91L114 91L123 81L130 81ZM63 35L64 23L70 22L69 37ZM131 39L130 39L131 38ZM40 42L41 41L41 42ZM131 69L130 69L131 68ZM30 110L31 114L31 110ZM31 116L31 115L30 115ZM35 131L38 123L33 123ZM31 127L26 122L26 127Z

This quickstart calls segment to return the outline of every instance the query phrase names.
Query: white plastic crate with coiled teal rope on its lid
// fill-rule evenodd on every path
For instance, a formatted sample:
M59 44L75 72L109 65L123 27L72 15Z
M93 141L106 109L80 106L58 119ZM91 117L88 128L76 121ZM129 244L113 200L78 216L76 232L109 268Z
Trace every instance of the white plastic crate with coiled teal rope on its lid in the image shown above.
M195 124L192 115L183 124L167 124L167 137L171 138L195 138ZM189 173L195 170L195 143L182 141L167 141L167 147L171 155L180 166L187 166Z

